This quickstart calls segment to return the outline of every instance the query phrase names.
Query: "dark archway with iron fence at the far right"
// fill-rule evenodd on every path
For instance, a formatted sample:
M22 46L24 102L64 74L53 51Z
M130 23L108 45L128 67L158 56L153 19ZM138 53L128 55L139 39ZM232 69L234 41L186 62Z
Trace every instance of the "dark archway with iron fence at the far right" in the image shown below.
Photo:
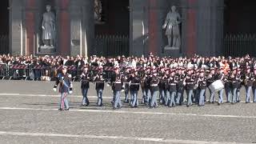
M225 0L224 54L256 56L256 1Z

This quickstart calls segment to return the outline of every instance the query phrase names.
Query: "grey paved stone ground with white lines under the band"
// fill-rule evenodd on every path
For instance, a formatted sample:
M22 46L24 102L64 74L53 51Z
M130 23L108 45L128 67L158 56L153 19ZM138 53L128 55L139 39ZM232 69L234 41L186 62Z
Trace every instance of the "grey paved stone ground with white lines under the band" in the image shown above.
M256 142L255 103L112 110L110 87L97 107L91 84L91 105L81 107L79 85L69 96L70 111L58 111L53 82L0 81L0 143ZM244 101L244 88L241 95Z

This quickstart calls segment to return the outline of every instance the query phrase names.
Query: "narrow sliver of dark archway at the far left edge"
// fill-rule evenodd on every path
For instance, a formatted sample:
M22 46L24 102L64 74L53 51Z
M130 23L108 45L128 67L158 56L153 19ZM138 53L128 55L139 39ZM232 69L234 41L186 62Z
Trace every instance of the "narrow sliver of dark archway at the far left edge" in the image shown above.
M9 53L9 1L2 0L0 5L0 54Z

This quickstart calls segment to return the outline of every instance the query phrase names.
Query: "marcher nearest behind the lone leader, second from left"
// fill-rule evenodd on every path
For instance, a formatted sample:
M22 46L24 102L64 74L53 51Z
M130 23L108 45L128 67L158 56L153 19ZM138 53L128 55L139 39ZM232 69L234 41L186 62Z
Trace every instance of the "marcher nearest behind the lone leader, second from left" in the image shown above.
M89 99L87 97L88 90L90 88L90 74L88 71L88 67L84 67L81 78L81 90L82 90L82 106L88 106L90 104Z

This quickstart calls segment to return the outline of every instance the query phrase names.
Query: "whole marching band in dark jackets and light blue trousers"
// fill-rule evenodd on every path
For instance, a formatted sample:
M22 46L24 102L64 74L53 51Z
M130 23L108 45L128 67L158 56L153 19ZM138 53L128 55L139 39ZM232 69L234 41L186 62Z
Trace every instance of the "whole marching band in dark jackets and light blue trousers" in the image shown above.
M96 93L98 96L97 106L103 105L104 83L109 82L113 90L113 109L122 108L121 92L125 92L125 101L131 108L138 107L138 99L142 95L141 103L149 108L158 107L158 102L164 106L174 107L204 106L206 102L206 90L210 90L209 103L214 103L217 99L218 105L224 103L223 93L226 94L226 102L235 104L241 101L240 89L246 88L246 103L250 102L250 93L253 90L253 102L256 102L256 68L246 66L244 68L232 67L224 69L223 67L206 68L170 68L166 66L156 67L148 66L142 69L128 67L125 70L116 66L110 81L103 78L103 66L99 66L96 73L90 73L86 66L81 74L82 106L89 106L87 97L90 88L90 82L96 83ZM60 110L69 110L66 94L72 90L72 82L67 76L65 68L62 70L61 78L58 78L54 90L58 83L68 83L66 89L60 88L62 93L62 106ZM64 79L63 79L64 78ZM70 88L70 90L68 90ZM139 90L142 94L138 94ZM183 98L186 91L186 98ZM129 94L130 92L130 94ZM215 93L218 93L218 98ZM129 99L130 95L130 99ZM158 101L159 98L159 101ZM66 108L65 108L65 107Z

